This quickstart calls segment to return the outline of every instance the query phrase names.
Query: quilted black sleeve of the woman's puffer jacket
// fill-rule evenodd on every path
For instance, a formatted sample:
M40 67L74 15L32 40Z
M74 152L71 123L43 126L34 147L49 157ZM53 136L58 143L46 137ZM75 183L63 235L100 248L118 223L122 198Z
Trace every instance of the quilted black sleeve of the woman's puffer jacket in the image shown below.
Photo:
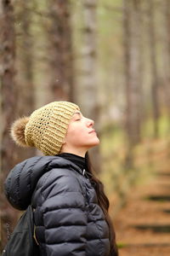
M85 255L86 198L73 174L54 169L43 184L42 219L48 256Z

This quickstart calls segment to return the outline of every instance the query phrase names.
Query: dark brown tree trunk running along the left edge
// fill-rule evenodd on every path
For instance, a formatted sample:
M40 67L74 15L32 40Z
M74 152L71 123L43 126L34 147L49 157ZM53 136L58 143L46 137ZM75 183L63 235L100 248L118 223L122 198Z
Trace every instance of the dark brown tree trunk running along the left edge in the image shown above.
M14 9L11 1L0 1L0 75L1 75L1 248L7 241L7 225L14 220L14 212L8 207L8 202L3 194L3 181L8 170L14 166L17 153L14 143L9 138L9 124L14 120L17 101L17 90L14 86L14 58L15 58L15 32Z

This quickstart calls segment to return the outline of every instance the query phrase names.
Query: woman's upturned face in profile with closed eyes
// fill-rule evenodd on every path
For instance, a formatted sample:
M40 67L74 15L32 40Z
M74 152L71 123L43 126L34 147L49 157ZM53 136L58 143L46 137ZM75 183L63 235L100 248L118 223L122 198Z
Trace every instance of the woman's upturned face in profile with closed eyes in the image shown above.
M77 110L68 126L62 152L85 154L89 148L98 145L99 137L97 137L93 126L94 121L85 118Z

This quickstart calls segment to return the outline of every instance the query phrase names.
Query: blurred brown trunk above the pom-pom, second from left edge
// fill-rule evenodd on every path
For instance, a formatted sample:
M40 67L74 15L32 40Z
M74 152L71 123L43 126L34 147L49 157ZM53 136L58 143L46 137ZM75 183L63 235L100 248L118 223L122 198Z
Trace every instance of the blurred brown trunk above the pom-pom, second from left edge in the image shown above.
M34 109L34 81L33 81L33 37L31 34L31 2L19 1L16 5L17 38L17 84L20 86L19 113L26 115Z

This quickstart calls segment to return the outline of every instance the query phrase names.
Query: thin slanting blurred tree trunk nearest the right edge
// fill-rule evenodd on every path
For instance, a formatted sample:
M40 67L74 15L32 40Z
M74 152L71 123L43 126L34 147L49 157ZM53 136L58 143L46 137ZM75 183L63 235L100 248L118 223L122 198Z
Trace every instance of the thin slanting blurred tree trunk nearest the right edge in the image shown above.
M150 37L150 65L151 65L151 96L154 119L154 136L159 135L159 76L156 62L156 29L155 29L155 4L153 0L148 1L148 16L149 16L149 37Z

